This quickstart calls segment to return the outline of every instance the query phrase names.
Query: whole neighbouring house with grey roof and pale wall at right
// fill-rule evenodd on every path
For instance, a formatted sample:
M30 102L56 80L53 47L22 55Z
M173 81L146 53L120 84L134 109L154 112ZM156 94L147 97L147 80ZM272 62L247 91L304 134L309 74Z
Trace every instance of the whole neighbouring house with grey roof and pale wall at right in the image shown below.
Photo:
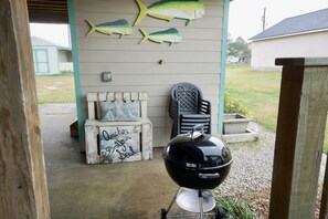
M254 70L278 69L276 58L328 56L328 9L287 18L250 40Z

